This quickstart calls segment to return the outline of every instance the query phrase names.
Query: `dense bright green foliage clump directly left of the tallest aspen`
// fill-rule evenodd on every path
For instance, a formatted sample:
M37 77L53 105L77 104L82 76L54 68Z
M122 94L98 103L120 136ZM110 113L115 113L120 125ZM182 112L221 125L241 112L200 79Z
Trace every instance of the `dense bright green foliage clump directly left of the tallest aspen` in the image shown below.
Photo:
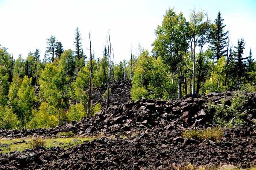
M170 73L161 57L149 56L148 51L138 57L131 88L133 100L141 98L171 98L172 85Z

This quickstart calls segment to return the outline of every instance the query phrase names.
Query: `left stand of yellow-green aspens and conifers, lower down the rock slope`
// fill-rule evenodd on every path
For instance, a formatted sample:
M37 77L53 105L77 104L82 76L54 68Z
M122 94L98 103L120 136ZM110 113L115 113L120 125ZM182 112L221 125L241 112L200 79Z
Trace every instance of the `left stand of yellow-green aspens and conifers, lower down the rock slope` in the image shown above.
M77 28L73 51L64 50L51 36L42 61L38 49L26 59L14 60L0 46L0 129L50 128L94 115L101 105L89 99L90 80L92 89L107 85L109 64L113 66L110 81L130 79L130 61L108 63L110 44L102 49L102 57L91 54L86 61L80 37Z

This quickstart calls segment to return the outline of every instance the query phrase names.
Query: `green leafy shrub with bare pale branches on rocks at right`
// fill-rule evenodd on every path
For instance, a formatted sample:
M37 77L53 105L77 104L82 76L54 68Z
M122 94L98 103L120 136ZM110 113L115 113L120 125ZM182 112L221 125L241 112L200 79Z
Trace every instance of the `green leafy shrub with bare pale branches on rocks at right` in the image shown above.
M242 114L242 106L246 103L246 98L243 94L237 93L231 100L231 106L224 104L212 105L209 103L210 107L208 112L213 114L213 120L217 122L222 127L234 127L244 123L244 114ZM224 103L225 101L223 101Z

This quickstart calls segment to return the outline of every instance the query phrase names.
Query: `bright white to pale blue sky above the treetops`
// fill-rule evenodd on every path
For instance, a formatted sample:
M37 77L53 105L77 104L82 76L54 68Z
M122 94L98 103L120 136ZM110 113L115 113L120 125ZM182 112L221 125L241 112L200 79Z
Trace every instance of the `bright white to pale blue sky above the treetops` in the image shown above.
M46 39L51 35L64 49L75 50L75 29L79 27L82 48L89 56L89 33L95 58L102 57L106 35L114 50L114 61L128 60L138 54L138 45L152 50L158 25L168 8L189 19L194 7L207 12L214 21L218 11L230 31L231 43L244 38L244 57L256 58L256 0L0 0L0 44L14 58L39 49L43 58Z

